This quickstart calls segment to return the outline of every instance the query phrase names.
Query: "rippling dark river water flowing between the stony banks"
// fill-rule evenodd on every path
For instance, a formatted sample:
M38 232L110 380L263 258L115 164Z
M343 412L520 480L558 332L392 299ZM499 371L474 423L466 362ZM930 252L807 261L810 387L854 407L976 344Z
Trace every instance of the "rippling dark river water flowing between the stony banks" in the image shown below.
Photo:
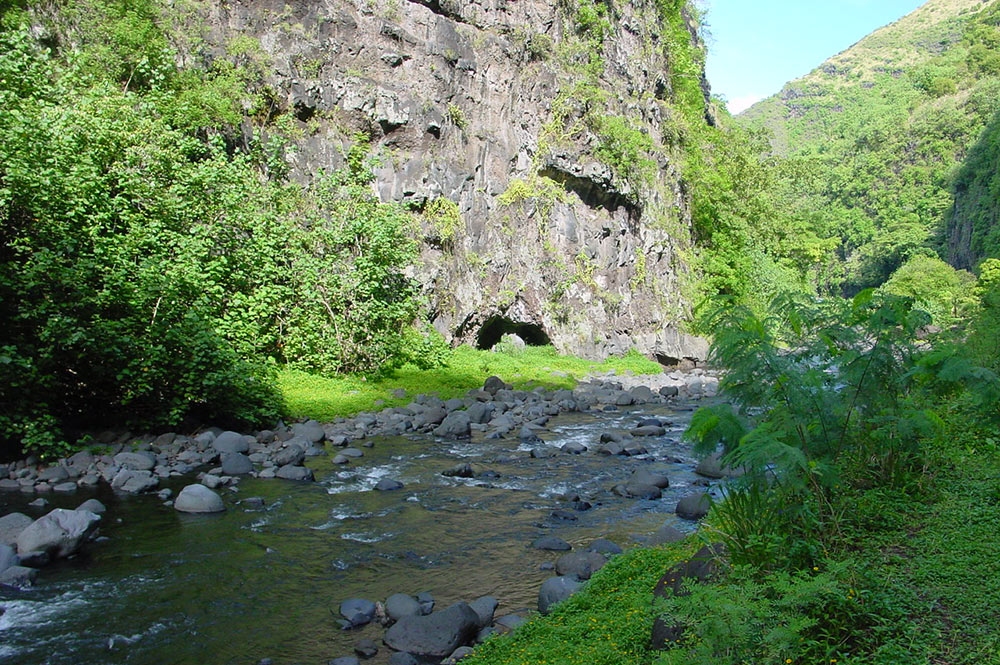
M0 590L0 663L252 665L269 657L321 664L351 655L362 637L381 641L375 625L340 630L337 608L348 598L430 591L443 609L489 594L500 600L497 616L533 609L538 587L554 574L540 566L560 554L531 549L538 536L559 536L574 548L608 537L627 549L675 519L677 499L696 479L690 449L680 443L691 410L570 414L542 433L546 445L579 441L593 450L601 432L648 415L670 420L667 436L643 440L650 450L643 458L560 452L531 459L516 440L481 435L464 443L379 438L350 468L312 460L315 484L247 478L238 492L224 491L228 509L217 515L181 514L155 495L97 493L108 506L104 539L44 569L30 591ZM440 475L462 461L499 477ZM607 491L636 468L668 473L663 499ZM405 488L372 491L383 477ZM190 482L167 486L177 492ZM575 513L575 522L550 516L568 507L560 500L568 491L594 495L594 508ZM39 510L26 505L33 497L0 494L0 514L38 517L88 496L50 495L50 507ZM252 496L265 507L237 504ZM388 654L383 647L367 662L385 663Z

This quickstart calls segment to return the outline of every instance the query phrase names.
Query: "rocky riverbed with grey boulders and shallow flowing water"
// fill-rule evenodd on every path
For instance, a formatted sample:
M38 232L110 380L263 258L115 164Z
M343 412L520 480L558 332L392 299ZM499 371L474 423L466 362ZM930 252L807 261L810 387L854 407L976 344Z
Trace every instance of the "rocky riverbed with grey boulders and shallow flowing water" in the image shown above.
M697 517L724 474L695 474L679 437L716 386L701 371L554 392L492 379L337 423L129 437L0 468L0 515L17 522L0 529L15 546L0 567L44 565L0 590L0 659L322 663L372 646L374 663L440 659L547 609L620 547L693 528L678 503ZM179 510L192 486L222 510ZM97 518L71 510L90 498L108 511L73 547L22 551L18 526L39 530L53 508Z

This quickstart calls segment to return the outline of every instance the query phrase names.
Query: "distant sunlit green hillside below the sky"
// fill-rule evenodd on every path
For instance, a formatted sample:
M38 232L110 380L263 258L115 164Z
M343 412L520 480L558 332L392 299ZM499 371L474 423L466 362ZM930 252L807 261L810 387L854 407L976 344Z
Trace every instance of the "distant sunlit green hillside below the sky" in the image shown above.
M931 0L738 118L784 158L774 206L799 246L786 260L819 291L880 285L916 256L970 256L946 244L971 234L946 227L959 169L1000 109L998 25L995 1Z

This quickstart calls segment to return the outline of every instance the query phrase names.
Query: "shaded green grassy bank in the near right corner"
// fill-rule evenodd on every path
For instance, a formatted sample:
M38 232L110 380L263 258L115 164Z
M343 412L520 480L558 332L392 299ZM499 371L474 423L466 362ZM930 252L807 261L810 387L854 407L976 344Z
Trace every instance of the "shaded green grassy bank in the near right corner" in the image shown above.
M685 543L617 557L552 615L487 642L467 662L998 664L1000 451L973 434L955 440L936 451L936 470L920 486L845 491L838 508L850 517L815 566L729 568L661 605L691 626L675 649L649 650L652 589L713 538L711 526Z

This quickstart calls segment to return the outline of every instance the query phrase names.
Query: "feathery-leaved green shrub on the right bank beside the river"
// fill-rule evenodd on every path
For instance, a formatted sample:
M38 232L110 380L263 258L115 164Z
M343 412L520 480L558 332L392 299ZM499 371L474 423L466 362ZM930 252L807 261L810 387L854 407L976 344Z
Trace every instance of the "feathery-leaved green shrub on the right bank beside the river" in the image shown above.
M813 560L819 534L837 529L836 487L901 485L921 468L923 444L940 431L932 393L997 396L992 372L918 343L928 317L906 298L784 296L766 317L721 306L707 320L731 403L699 409L686 436L698 454L721 446L724 462L746 471L710 519L737 561Z

